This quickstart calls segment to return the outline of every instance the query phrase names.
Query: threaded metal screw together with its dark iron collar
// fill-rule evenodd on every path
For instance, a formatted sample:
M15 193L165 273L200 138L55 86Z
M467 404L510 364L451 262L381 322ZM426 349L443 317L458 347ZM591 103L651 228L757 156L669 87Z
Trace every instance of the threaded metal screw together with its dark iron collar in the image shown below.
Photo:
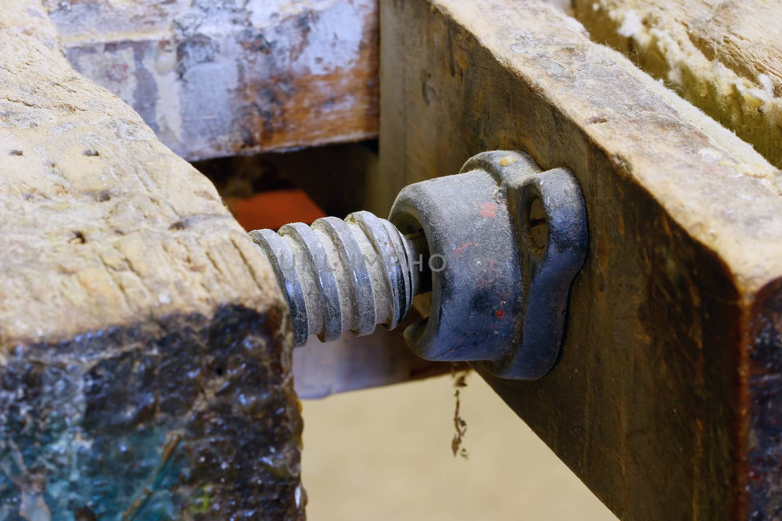
M404 331L416 354L534 380L559 354L587 210L569 170L495 151L405 187L389 220L357 212L250 236L288 301L296 345L391 329L431 291L429 317Z

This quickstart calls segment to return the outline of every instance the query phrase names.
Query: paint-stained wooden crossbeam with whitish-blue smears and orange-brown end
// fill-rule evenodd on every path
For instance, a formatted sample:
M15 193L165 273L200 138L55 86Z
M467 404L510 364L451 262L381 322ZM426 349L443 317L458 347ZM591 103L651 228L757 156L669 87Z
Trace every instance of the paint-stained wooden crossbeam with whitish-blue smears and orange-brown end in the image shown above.
M188 160L377 135L375 0L45 0L68 59Z

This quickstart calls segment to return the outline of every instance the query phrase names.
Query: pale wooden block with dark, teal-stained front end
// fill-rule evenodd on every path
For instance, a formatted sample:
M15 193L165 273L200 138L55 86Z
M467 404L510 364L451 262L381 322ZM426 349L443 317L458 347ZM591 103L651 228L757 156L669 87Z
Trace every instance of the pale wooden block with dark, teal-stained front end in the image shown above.
M0 519L303 516L263 255L41 5L0 11Z

